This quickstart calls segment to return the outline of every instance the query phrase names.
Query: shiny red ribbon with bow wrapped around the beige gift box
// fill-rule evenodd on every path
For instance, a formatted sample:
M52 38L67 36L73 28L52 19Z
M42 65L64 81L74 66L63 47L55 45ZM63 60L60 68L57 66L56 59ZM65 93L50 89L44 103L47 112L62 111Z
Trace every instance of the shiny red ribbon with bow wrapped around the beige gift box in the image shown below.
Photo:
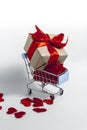
M56 48L63 48L64 46L66 46L68 39L66 40L66 43L62 43L63 39L64 39L64 34L61 33L59 35L54 36L52 39L50 38L50 36L48 34L45 34L44 32L42 32L37 26L36 27L36 32L31 34L33 37L33 42L30 45L27 55L28 58L31 60L35 50L38 47L42 47L42 46L47 46L47 49L50 53L50 58L48 61L48 64L52 64L54 61L56 62L58 60L58 52L56 51Z

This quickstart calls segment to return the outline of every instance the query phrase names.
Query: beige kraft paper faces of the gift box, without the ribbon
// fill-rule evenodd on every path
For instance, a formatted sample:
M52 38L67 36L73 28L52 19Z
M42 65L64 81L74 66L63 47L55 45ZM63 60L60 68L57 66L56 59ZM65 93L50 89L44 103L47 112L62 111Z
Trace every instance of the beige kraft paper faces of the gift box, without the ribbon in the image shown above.
M54 35L49 35L50 38L52 38ZM64 42L66 38L63 40ZM27 41L25 43L25 46L24 46L24 50L29 58L29 56L31 55L31 51L33 50L33 46L31 48L31 44L33 43L34 39L32 37L31 34L28 35L28 38L27 38ZM38 46L38 45L36 45ZM53 46L52 46L53 47ZM66 51L63 49L63 48L55 48L53 47L56 51L57 51L57 61L59 64L63 63L66 59L66 57L68 56ZM29 49L31 49L30 52ZM48 61L49 61L49 58L50 58L50 53L48 51L48 48L47 46L41 46L41 47L37 47L31 57L31 59L29 58L32 66L34 69L44 69L47 64L48 64ZM56 56L56 54L54 54L54 57ZM52 59L52 62L55 62L55 58L51 58Z

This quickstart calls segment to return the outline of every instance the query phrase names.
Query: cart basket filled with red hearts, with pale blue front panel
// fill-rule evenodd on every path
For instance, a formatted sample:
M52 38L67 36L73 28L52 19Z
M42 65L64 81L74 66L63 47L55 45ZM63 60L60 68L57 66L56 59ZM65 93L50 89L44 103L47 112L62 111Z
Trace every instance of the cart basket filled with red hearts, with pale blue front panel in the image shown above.
M59 85L67 81L68 77L68 70L65 67L63 67L63 65L50 68L49 71L35 70L33 75L33 78L36 81Z

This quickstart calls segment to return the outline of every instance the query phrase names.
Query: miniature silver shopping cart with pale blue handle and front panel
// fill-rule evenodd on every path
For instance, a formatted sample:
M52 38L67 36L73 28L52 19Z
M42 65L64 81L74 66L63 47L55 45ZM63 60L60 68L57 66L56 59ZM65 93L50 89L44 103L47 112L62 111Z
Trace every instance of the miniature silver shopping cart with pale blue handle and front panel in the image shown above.
M68 79L67 70L59 75L55 75L44 70L34 70L27 57L27 54L23 53L22 58L24 59L29 79L29 83L27 84L27 92L29 95L32 93L32 90L47 93L50 95L50 98L52 100L55 98L55 95L57 94L63 95L64 90L59 87L59 84ZM56 78L58 78L59 81L57 81ZM36 85L32 87L34 82L36 82L36 84L40 86L40 89L37 89Z

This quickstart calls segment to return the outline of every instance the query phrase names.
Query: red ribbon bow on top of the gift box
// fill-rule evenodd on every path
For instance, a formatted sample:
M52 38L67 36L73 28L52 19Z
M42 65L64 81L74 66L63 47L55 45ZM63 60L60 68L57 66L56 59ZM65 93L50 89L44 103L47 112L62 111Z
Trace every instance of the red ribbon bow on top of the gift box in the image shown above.
M68 38L65 43L62 43L62 41L64 39L63 33L60 33L51 39L48 34L45 34L44 32L42 32L36 25L35 25L35 27L36 27L37 32L31 34L35 41L49 42L53 47L56 47L56 48L63 48L66 46L66 44L68 42Z

